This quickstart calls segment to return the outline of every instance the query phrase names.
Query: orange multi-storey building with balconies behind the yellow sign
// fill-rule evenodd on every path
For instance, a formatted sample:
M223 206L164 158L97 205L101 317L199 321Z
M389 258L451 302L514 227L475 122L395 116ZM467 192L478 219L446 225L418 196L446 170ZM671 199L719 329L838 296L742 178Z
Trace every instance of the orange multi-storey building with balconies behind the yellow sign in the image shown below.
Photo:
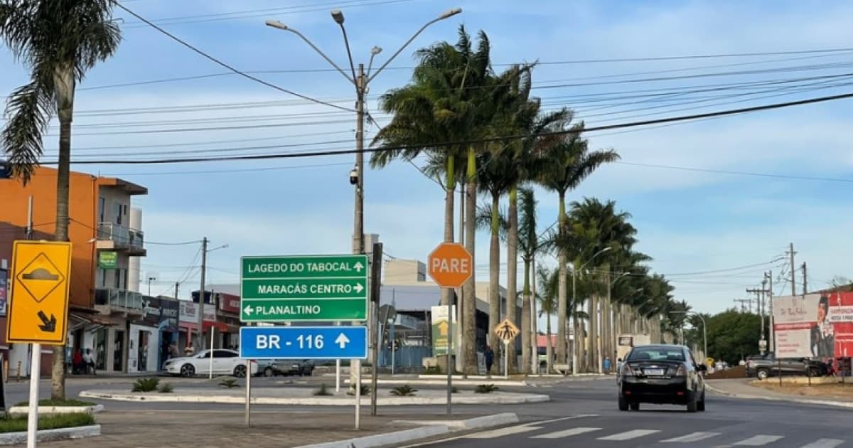
M26 186L3 176L3 172L0 161L0 223L26 227L32 198L32 238L52 239L56 228L56 170L38 167ZM73 252L67 351L96 347L97 364L107 370L127 369L126 321L142 309L142 295L130 290L135 284L129 279L131 257L146 255L142 231L131 226L131 197L146 194L145 187L119 178L71 173L68 239ZM0 246L11 246L13 239L0 234ZM138 272L133 275L138 276ZM117 352L107 350L111 346L116 346Z

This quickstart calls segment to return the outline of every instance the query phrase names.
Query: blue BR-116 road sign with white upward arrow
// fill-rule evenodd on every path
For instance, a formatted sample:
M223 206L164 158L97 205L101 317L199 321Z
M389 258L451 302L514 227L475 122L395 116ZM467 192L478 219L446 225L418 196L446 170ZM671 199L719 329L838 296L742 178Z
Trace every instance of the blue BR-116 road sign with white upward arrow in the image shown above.
M366 359L367 327L241 327L240 358Z

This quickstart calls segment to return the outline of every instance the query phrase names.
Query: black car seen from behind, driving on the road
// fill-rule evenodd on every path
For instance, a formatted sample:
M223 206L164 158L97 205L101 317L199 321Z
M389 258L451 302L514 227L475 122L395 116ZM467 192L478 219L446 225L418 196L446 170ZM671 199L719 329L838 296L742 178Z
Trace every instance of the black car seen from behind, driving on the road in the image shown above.
M635 346L618 372L619 410L640 410L641 403L705 410L706 371L686 346Z

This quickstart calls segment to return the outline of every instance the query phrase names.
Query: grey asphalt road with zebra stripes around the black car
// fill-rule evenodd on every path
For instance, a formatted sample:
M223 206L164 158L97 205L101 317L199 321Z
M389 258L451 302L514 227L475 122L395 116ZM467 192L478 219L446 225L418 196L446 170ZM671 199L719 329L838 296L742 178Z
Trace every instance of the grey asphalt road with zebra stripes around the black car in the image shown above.
M843 408L707 396L707 410L642 404L620 412L615 381L547 390L552 401L519 409L521 424L410 446L853 447L853 412Z

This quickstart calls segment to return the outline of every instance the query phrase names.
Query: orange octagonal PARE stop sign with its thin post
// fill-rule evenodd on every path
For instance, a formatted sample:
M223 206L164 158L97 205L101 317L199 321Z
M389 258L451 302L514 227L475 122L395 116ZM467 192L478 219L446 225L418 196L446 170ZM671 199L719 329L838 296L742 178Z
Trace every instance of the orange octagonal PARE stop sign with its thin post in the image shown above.
M460 288L473 275L473 257L464 246L455 242L443 242L427 258L429 276L442 288ZM453 294L456 298L456 294ZM453 413L453 302L447 303L449 321L447 331L447 415ZM457 353L458 356L458 353Z

